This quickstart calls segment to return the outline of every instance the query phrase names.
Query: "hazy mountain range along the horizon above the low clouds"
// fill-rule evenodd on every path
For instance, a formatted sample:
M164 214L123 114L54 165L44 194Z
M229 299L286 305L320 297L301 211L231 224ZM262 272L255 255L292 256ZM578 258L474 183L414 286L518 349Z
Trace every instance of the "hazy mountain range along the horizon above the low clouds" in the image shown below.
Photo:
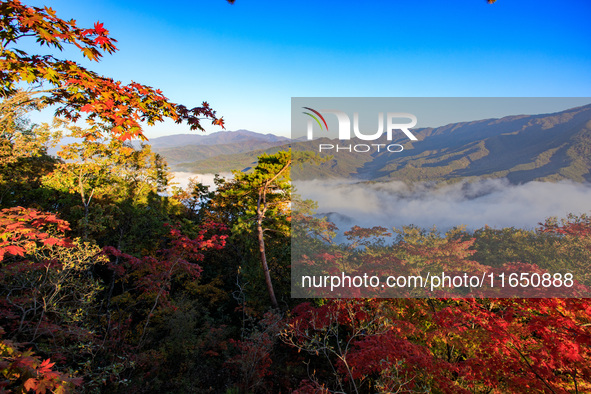
M339 152L319 165L307 165L298 179L326 177L365 180L455 181L507 178L512 183L533 180L591 181L591 104L541 115L517 115L413 129L418 141L406 137L371 143L398 143L399 153ZM248 170L262 153L281 149L318 150L319 143L344 144L327 138L290 141L246 130L152 140L154 150L173 169L196 173ZM177 141L177 142L174 142ZM182 146L173 146L182 141ZM203 141L189 144L187 141ZM352 139L346 145L367 141ZM329 155L330 152L325 154Z

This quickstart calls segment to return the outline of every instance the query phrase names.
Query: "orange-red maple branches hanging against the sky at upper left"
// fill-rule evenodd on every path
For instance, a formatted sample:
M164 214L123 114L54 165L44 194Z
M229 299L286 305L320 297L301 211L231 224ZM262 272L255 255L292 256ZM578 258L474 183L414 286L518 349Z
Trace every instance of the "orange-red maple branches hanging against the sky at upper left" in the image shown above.
M40 45L59 51L65 45L74 46L90 61L99 61L104 54L117 51L117 41L102 23L82 28L73 19L58 18L49 7L29 7L19 0L0 3L0 16L0 96L4 99L17 94L26 83L29 90L24 103L56 105L56 115L68 120L86 114L90 138L102 135L106 125L119 139L145 139L141 122L153 125L165 118L186 122L192 130L203 130L204 119L224 125L207 102L189 109L170 102L158 89L137 82L126 85L74 61L29 55L18 48L19 40L33 37Z

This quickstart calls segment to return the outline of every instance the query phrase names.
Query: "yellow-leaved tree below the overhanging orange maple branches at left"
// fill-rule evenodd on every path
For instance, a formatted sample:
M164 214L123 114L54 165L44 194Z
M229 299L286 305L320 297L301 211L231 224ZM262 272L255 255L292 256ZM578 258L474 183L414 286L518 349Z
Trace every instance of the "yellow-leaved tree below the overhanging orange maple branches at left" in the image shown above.
M171 176L164 159L149 145L136 149L116 138L90 141L80 138L86 130L68 129L69 137L78 138L62 146L58 152L62 160L42 179L45 208L59 209L85 239L90 236L102 245L121 248L128 230L147 219L138 212L142 207L152 205L148 218L163 218L163 222L171 220L169 211L182 211L180 202L159 195L166 191ZM134 241L142 243L141 237Z

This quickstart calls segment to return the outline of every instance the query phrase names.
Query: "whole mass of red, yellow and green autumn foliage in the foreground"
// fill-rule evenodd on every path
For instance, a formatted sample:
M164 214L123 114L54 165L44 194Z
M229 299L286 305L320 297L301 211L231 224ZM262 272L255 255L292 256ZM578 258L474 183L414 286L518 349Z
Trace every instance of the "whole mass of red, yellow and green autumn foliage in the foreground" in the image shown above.
M98 61L117 50L100 22L79 27L19 0L0 16L0 392L591 392L587 298L292 298L290 279L301 267L527 269L571 272L587 291L588 216L535 231L352 226L337 240L292 193L291 166L315 160L306 152L181 189L160 155L127 140L165 118L223 126L206 102L188 109L19 49L30 37ZM65 119L31 125L27 112L46 105ZM82 118L88 127L70 124ZM50 156L63 130L76 142Z

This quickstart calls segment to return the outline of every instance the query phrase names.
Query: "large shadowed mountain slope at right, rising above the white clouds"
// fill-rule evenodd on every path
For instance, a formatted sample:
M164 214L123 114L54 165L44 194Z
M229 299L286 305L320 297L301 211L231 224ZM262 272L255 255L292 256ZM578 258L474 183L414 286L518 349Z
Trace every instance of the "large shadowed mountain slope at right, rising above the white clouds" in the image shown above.
M394 158L378 154L358 173L411 181L591 180L591 105L556 114L457 123L418 134L422 141L406 144L409 149Z

